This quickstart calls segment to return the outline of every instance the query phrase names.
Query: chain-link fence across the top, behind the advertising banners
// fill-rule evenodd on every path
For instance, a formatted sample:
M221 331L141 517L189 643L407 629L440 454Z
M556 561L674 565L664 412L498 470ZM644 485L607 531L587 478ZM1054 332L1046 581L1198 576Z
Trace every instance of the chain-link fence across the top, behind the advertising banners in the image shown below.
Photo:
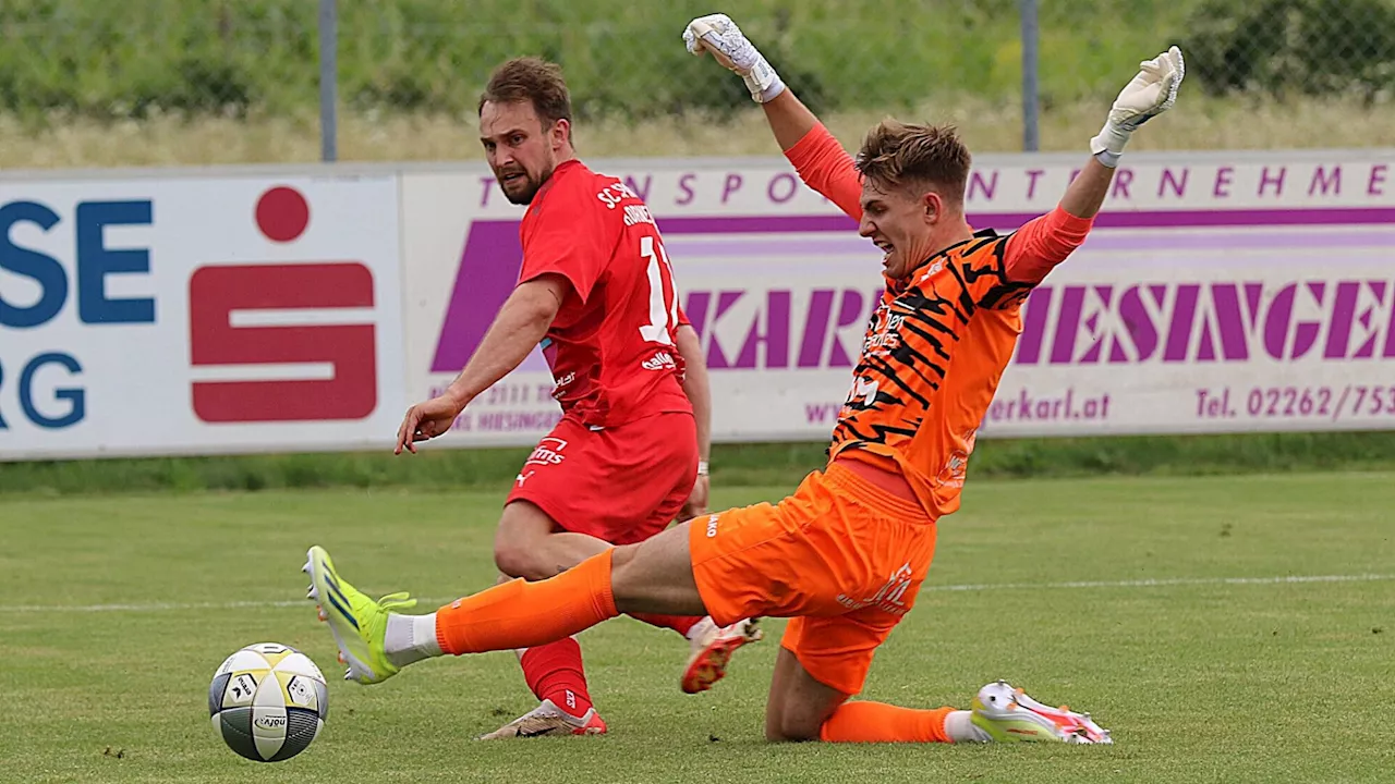
M1023 25L1028 3L1035 25ZM318 141L318 6L0 1L0 135L18 128L42 141L42 133L74 124L98 133L113 123L218 121L273 123L278 133ZM720 10L707 0L329 6L329 109L340 123L332 138L345 158L417 158L423 138L392 128L421 123L449 134L446 152L473 155L476 96L490 70L518 54L564 66L583 123L730 124L727 141L738 142L760 130L739 121L752 112L739 80L682 47L684 24ZM949 116L997 127L988 146L1013 149L1024 126L1039 120L1050 148L1057 137L1074 138L1067 130L1098 126L1138 60L1179 43L1189 63L1187 110L1243 116L1250 134L1198 137L1191 146L1286 140L1303 112L1329 123L1322 107L1334 102L1370 114L1366 144L1395 141L1385 130L1395 120L1395 109L1385 113L1395 88L1395 0L746 0L727 10L806 103L847 117L850 127L883 113ZM1028 57L1024 71L1024 42L1035 70ZM1035 98L1025 113L1024 84L1036 91L1025 96ZM1274 127L1256 127L1257 119ZM177 134L151 135L163 144ZM769 140L756 135L751 144L764 146L752 149L766 149ZM1314 131L1310 144L1328 140ZM654 144L644 152L664 151L663 138ZM264 146L259 159L275 159L276 149ZM255 149L248 153L255 159Z

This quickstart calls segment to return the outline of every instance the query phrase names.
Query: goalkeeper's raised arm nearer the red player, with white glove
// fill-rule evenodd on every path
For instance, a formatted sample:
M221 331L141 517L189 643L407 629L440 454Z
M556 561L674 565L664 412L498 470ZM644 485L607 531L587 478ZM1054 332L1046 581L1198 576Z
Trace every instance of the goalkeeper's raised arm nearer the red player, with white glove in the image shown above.
M862 184L852 158L780 80L737 22L725 14L699 17L688 22L684 42L693 54L710 52L746 82L752 100L766 112L776 142L805 184L861 220Z

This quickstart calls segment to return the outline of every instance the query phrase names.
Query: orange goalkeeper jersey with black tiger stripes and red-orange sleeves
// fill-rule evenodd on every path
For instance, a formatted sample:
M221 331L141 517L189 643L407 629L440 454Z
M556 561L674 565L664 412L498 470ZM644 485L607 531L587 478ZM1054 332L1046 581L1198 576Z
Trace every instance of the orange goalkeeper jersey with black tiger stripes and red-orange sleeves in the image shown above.
M861 220L861 179L823 126L785 155L806 184ZM1011 234L976 232L887 279L829 459L900 472L932 518L958 509L975 434L1023 329L1021 303L1091 225L1056 208Z

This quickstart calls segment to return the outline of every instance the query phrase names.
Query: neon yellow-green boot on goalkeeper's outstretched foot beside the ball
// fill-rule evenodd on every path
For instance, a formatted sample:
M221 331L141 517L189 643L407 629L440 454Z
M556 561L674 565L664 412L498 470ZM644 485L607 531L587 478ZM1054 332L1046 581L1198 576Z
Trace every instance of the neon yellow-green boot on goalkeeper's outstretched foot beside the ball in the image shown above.
M417 600L406 593L392 593L377 601L368 598L339 576L329 552L318 544L306 554L301 571L310 575L306 598L315 601L319 619L329 624L335 635L339 663L349 665L345 681L381 684L396 675L398 667L388 661L384 644L388 614L412 607Z

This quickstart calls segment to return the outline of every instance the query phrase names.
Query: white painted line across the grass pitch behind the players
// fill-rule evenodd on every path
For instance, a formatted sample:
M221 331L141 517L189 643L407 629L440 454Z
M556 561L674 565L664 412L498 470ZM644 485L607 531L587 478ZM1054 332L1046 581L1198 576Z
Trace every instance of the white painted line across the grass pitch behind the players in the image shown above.
M1045 590L1045 589L1133 589L1172 586L1276 586L1304 583L1371 583L1395 580L1395 575L1286 575L1279 578L1156 578L1144 580L1074 580L1064 583L978 583L953 586L923 586L922 591L988 591L988 590ZM459 598L418 598L425 605L445 604ZM304 598L285 601L197 601L149 604L15 604L0 605L6 612L167 612L181 610L265 610L273 607L308 607Z

